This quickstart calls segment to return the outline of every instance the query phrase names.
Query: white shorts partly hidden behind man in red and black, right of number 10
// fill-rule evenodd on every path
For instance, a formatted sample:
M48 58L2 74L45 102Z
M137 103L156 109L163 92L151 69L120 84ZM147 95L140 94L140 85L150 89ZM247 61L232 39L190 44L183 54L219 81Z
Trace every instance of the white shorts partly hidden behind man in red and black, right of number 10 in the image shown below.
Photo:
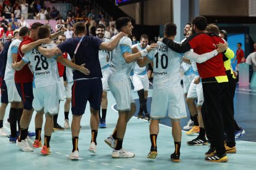
M202 106L203 105L203 86L202 86L202 83L194 84L194 80L190 84L189 92L187 93L187 99L197 99L197 106Z

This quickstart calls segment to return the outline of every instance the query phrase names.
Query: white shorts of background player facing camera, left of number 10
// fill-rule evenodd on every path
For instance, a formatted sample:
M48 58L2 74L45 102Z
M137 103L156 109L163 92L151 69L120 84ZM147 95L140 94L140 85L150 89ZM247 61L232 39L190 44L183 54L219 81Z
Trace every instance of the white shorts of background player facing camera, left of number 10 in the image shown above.
M134 84L134 91L140 91L142 89L144 89L144 91L148 91L149 89L148 75L132 76L132 84Z

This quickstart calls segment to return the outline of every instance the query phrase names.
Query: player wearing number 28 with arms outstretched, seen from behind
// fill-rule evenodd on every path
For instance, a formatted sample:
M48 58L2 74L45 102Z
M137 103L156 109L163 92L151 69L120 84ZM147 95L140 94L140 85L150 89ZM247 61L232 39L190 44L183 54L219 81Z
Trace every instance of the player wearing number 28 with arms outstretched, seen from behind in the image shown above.
M38 29L38 38L49 38L51 31L48 26L40 26ZM52 49L54 44L43 44L46 49ZM33 48L31 51L26 52L22 60L18 63L13 63L12 68L20 70L28 62L32 65L33 79L33 108L37 111L43 110L46 115L45 121L45 144L41 149L43 155L51 153L49 149L49 141L51 139L51 133L53 132L53 115L58 114L59 110L59 94L58 94L58 68L57 62L61 62L67 67L79 70L83 74L87 74L88 70L83 65L78 66L64 59L62 55L56 55L53 58L46 58L41 55L40 52ZM17 145L19 146L18 142ZM27 146L27 152L32 152L33 148Z

